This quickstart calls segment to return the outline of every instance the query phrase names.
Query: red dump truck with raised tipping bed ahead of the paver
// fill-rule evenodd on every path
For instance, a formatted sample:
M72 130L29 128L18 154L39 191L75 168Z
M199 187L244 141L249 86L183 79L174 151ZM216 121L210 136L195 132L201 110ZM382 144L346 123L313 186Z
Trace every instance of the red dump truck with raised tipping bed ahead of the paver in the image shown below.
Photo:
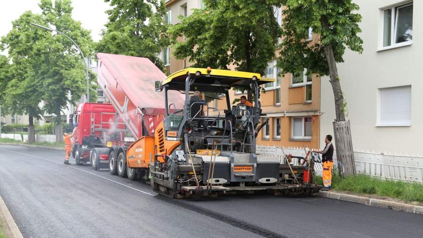
M126 150L133 141L124 141L125 132L137 140L154 136L164 119L164 93L157 93L155 81L166 76L147 58L98 53L98 85L108 103L82 103L75 111L72 154L76 164L90 162L94 169L126 175ZM172 108L182 108L184 96L167 95ZM170 110L174 110L174 109ZM119 161L118 161L119 160ZM145 174L136 170L134 175Z

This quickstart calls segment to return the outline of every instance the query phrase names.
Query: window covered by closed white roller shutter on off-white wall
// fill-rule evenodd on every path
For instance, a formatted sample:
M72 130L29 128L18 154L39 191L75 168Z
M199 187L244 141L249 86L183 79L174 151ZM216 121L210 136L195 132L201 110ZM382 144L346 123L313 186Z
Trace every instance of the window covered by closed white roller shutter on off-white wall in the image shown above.
M380 126L409 126L411 124L411 86L380 88Z

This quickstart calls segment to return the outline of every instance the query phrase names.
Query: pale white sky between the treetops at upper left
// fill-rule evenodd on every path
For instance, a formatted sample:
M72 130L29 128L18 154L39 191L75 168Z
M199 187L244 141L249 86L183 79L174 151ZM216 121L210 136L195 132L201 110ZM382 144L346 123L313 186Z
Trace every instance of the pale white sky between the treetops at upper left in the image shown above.
M39 0L2 0L0 7L0 37L12 29L12 21L25 11L40 14ZM107 22L106 10L109 3L104 0L72 0L72 17L82 23L82 27L91 31L94 41L101 39L100 32ZM0 52L5 54L5 52Z

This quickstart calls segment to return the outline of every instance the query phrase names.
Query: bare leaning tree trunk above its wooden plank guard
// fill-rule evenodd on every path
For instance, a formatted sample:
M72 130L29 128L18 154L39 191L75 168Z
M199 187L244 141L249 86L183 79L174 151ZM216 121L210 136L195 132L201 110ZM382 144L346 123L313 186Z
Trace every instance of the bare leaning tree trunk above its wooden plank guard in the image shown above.
M344 121L345 114L342 108L344 103L344 95L342 94L341 84L339 83L338 70L336 69L336 62L332 45L325 45L324 50L329 65L331 78L329 82L331 82L332 89L334 90L336 121Z

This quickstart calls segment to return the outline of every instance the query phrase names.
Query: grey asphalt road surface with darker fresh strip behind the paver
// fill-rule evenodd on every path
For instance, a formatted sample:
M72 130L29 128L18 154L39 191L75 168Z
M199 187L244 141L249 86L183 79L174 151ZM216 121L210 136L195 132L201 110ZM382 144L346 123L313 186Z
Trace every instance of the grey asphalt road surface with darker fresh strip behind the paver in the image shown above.
M62 151L0 146L0 194L24 237L421 237L423 233L422 215L321 197L227 196L174 203L156 198L146 184L94 171L88 164L62 165L63 157Z

